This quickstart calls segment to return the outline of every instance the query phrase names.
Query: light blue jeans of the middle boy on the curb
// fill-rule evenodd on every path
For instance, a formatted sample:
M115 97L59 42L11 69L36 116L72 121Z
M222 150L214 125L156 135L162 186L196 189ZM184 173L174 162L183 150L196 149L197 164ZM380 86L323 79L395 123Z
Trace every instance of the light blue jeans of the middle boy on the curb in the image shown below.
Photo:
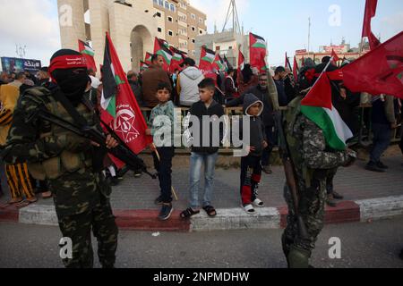
M201 166L204 164L204 198L202 206L211 206L214 189L214 172L219 153L200 154L192 152L190 174L190 206L197 210L200 208L199 189L201 181Z

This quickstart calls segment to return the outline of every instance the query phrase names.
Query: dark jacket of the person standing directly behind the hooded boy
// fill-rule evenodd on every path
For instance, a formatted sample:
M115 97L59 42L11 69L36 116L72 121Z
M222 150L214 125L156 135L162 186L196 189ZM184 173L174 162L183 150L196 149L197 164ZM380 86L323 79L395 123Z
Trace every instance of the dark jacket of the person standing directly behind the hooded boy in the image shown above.
M253 94L253 96L258 97L260 101L262 101L264 107L263 112L261 114L261 119L265 127L273 127L275 125L274 122L274 114L273 114L273 104L271 103L269 89L262 89L259 85L249 88L241 97L238 97L234 100L231 100L227 103L227 107L241 106L244 104L244 96L246 94Z

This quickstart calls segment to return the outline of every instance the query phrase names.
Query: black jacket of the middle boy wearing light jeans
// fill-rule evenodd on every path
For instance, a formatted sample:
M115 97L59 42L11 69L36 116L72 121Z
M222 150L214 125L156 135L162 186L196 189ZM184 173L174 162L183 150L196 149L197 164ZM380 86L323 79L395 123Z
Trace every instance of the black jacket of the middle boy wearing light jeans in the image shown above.
M192 152L201 153L201 154L214 154L219 151L219 146L221 145L222 140L224 139L224 130L225 126L222 123L219 123L219 144L215 144L217 142L217 138L213 140L213 122L218 123L221 117L225 114L224 108L222 105L219 105L216 101L213 101L209 108L204 105L203 102L199 101L192 105L190 109L190 114L196 116L200 122L199 129L199 138L197 138L196 134L192 134ZM203 139L207 139L207 135L203 134L202 128L202 118L203 116L210 116L210 142L209 144L203 144ZM192 127L192 124L190 125ZM194 130L196 131L196 130ZM205 131L205 130L204 130Z

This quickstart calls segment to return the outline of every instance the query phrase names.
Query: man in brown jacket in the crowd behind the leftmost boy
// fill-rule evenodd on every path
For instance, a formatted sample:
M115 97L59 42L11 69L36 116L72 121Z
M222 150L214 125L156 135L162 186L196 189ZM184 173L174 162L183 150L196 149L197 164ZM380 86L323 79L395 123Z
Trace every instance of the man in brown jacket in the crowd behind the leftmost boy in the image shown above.
M171 80L167 71L162 69L163 66L162 55L152 55L149 69L142 73L142 99L146 107L154 108L159 105L156 96L159 83L166 82L172 89Z

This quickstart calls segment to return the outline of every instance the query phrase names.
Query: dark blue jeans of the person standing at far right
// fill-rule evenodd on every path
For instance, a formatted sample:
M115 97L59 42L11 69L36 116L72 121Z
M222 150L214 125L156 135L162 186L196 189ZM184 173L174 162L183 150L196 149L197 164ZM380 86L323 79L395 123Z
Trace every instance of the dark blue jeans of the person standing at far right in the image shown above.
M383 152L390 146L390 140L390 125L373 123L373 150L371 151L371 162L380 162Z

